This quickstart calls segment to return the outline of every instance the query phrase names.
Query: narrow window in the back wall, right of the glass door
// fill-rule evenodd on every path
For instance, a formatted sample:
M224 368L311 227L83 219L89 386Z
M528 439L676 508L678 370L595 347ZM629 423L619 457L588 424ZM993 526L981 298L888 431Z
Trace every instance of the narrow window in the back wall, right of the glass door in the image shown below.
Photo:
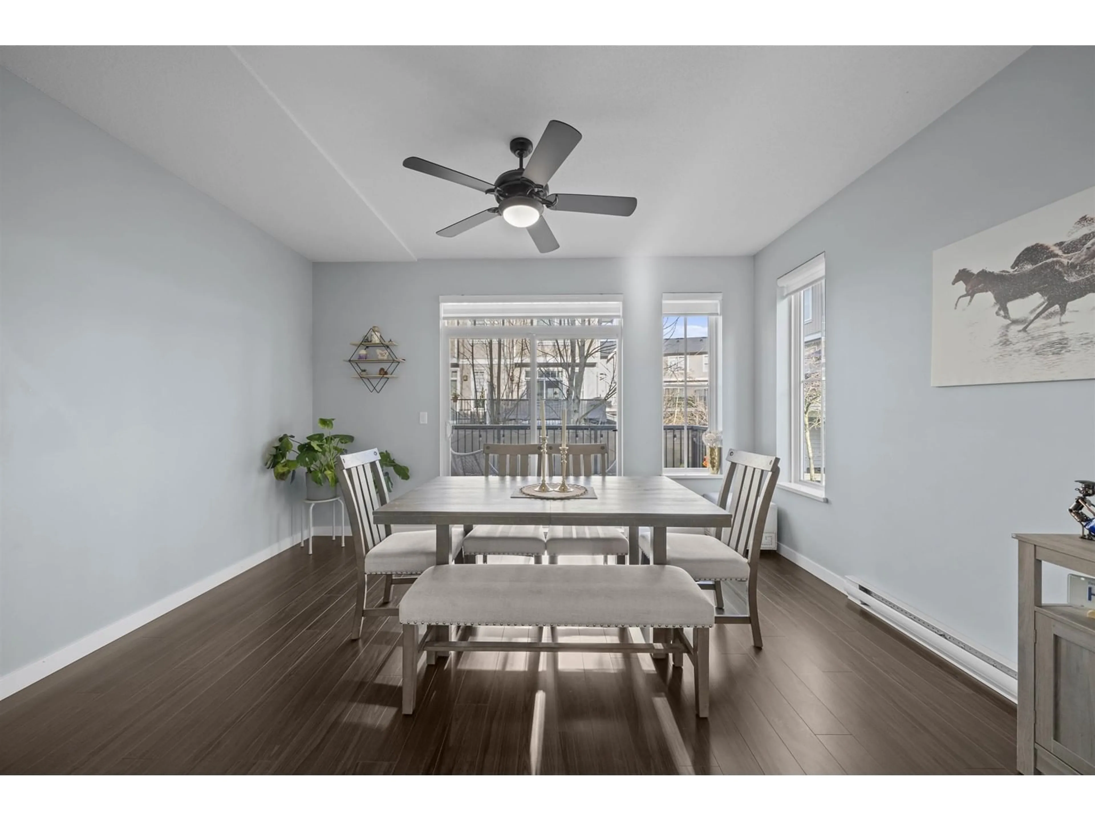
M661 301L661 439L666 473L706 472L703 435L719 428L721 294Z

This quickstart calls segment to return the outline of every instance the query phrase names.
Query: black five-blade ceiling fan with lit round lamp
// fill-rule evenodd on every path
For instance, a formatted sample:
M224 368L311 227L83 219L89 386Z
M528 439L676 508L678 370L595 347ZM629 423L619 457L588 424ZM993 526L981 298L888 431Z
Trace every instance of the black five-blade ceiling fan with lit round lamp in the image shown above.
M537 150L532 140L515 137L509 141L509 150L517 155L518 167L503 173L494 183L480 180L459 171L447 169L419 157L408 157L403 166L423 174L448 180L450 183L466 185L484 194L493 194L498 204L494 208L474 213L460 222L438 231L440 236L456 236L470 228L500 216L506 222L527 229L532 242L541 254L555 251L558 241L543 219L544 209L553 211L580 211L581 213L608 213L614 217L630 217L638 204L634 197L603 197L590 194L552 194L548 181L558 171L558 166L569 157L581 139L577 128L553 119L544 129ZM531 157L530 157L531 154ZM529 158L528 165L525 158Z

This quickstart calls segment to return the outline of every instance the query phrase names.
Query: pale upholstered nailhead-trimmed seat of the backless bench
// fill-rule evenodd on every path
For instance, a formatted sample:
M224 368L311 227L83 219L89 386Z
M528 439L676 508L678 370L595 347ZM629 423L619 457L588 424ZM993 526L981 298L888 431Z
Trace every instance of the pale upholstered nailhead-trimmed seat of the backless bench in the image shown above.
M439 565L400 602L403 624L711 627L715 609L679 567Z

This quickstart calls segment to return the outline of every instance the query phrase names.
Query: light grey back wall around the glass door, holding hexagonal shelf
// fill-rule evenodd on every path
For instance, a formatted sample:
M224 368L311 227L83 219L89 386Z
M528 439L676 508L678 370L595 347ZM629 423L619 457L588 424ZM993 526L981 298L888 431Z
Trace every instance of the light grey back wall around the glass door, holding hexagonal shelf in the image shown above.
M411 486L437 476L440 465L441 296L622 294L622 459L627 473L653 475L661 471L661 294L722 293L724 439L751 443L749 258L324 263L314 273L315 412L335 417L358 444L391 450L411 467ZM394 338L407 360L380 394L369 393L345 361L371 325ZM418 424L420 410L428 425Z

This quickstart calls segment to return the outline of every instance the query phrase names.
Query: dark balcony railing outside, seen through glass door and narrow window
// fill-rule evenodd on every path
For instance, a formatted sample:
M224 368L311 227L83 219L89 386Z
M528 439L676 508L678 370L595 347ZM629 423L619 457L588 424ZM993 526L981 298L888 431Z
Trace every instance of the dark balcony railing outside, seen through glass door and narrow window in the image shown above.
M703 435L706 427L702 425L665 425L662 426L662 464L666 467L692 467L703 465L705 449ZM567 442L570 444L608 446L609 474L616 474L616 442L619 440L615 425L568 425ZM461 425L451 426L449 448L451 450L451 473L453 476L483 475L483 444L527 444L539 443L538 433L526 425ZM562 441L562 426L548 425L548 441L557 444ZM689 461L684 461L685 453Z

